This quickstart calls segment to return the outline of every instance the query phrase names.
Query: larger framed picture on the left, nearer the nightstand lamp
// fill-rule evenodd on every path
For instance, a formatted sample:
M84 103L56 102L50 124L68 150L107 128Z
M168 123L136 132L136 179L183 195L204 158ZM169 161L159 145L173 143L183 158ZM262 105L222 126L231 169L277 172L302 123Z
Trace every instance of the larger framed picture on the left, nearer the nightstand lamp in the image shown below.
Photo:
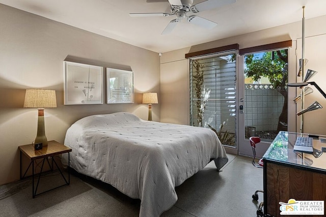
M103 67L64 61L64 104L103 104Z

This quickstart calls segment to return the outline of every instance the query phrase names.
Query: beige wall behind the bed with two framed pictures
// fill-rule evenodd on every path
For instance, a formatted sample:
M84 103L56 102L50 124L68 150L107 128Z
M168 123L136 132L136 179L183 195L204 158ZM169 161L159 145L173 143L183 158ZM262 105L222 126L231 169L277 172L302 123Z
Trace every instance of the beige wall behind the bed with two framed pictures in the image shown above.
M0 184L19 179L17 147L36 137L37 110L22 107L25 89L56 90L58 107L45 109L45 132L61 143L82 117L125 111L147 120L142 93L157 92L160 100L158 53L1 4L0 20ZM135 103L105 104L104 93L104 104L63 105L64 60L132 70ZM160 104L153 104L153 120L160 120Z

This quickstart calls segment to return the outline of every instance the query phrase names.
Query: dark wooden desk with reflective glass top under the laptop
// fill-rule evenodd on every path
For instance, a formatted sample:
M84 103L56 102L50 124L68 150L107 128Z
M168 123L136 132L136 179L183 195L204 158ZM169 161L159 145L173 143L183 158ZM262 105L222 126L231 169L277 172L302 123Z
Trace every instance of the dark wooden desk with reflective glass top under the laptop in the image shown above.
M326 202L326 153L316 158L294 152L297 137L308 137L308 134L280 131L263 156L266 216L280 216L279 202L288 203L289 199ZM326 143L314 139L313 146L321 150Z

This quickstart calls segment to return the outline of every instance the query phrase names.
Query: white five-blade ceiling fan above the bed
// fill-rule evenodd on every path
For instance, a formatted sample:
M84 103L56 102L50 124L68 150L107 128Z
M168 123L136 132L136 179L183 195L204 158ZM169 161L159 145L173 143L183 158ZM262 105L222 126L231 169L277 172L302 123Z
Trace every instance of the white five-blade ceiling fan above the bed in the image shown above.
M188 22L200 25L206 29L214 28L217 23L200 16L191 15L187 16L188 12L198 13L205 10L210 10L224 5L235 3L236 0L207 0L205 2L193 5L194 0L168 0L171 13L129 13L131 17L146 17L146 16L171 16L175 15L177 18L170 21L162 35L169 34L175 28L175 26L182 19L187 18Z

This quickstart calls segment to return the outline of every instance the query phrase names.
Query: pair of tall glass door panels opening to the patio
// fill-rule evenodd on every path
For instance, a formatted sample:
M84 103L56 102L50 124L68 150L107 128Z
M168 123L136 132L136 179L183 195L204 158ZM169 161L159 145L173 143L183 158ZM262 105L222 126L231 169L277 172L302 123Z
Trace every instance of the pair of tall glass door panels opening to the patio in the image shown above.
M287 52L191 59L191 124L211 128L223 145L243 155L252 155L249 137L260 137L262 156L276 134L287 131Z

